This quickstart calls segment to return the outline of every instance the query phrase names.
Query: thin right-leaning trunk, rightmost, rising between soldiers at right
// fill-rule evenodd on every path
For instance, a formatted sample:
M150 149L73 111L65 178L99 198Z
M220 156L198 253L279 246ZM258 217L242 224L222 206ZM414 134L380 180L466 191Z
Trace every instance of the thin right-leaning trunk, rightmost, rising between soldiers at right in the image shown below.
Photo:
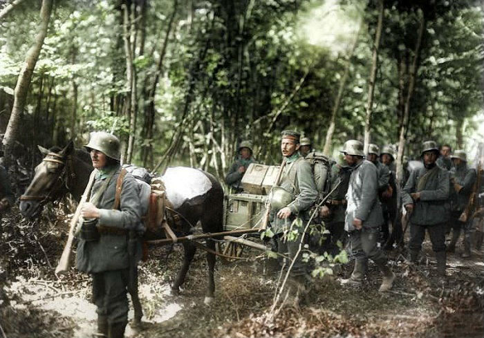
M420 27L418 28L418 37L417 37L415 50L413 50L413 60L409 70L409 76L410 76L409 86L407 91L407 97L404 103L402 123L400 124L400 137L398 140L397 173L396 173L398 186L402 185L402 172L403 172L402 158L404 153L407 128L409 126L410 102L413 94L413 88L415 87L416 75L417 75L418 66L419 66L418 62L420 59L420 46L422 45L422 37L425 31L425 26L427 26L427 20L425 19L425 15L423 15L421 10L420 10L420 15L422 16L422 19L420 21Z

